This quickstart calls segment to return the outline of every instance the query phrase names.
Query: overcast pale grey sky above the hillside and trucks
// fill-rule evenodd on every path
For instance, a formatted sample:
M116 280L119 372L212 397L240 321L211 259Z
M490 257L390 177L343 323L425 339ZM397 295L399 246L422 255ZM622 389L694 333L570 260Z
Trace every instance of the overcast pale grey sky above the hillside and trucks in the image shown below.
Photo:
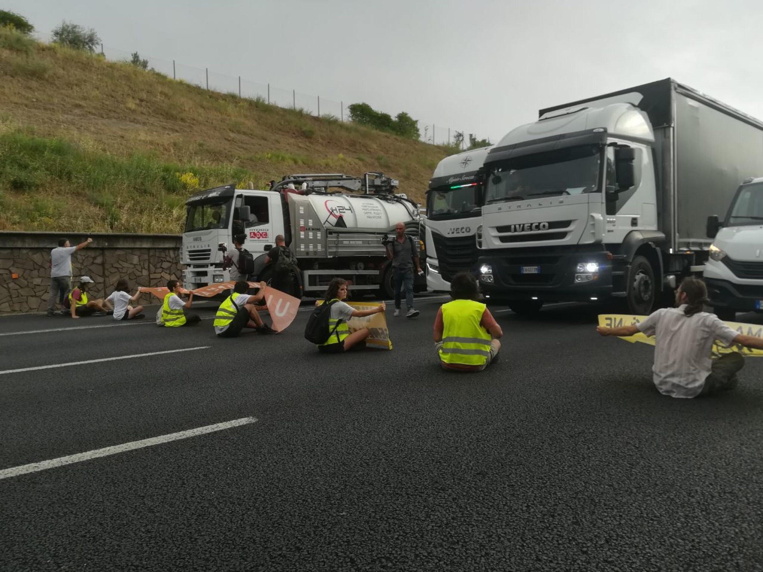
M5 0L3 8L26 16L40 37L64 19L95 28L107 56L137 50L407 111L420 124L492 141L539 108L665 77L763 117L756 0Z

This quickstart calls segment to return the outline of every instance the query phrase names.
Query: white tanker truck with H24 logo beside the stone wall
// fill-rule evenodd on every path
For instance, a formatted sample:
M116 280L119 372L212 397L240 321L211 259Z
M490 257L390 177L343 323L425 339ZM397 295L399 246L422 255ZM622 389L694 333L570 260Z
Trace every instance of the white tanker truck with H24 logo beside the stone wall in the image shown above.
M385 237L403 222L423 247L418 205L396 194L397 186L382 173L319 173L287 175L267 191L225 185L194 194L185 202L183 282L200 288L228 281L224 246L242 233L243 248L255 258L250 278L268 282L272 270L265 259L281 234L298 259L304 295L320 296L331 278L341 277L350 281L354 294L392 297ZM417 276L414 286L426 290L426 278Z

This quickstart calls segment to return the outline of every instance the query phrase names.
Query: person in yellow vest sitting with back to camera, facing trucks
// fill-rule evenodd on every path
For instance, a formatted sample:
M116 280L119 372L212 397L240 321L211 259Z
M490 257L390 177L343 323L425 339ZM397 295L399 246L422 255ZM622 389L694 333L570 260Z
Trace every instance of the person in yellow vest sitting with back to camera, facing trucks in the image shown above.
M490 310L477 300L477 280L461 272L450 282L452 301L437 310L434 341L440 365L458 371L482 371L497 360L504 335Z

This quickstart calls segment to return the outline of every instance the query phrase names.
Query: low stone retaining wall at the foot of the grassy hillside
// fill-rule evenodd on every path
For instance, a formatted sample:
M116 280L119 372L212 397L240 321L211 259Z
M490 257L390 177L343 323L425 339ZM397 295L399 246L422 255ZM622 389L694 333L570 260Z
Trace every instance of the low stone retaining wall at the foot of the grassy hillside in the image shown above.
M88 236L92 244L72 255L72 284L82 275L92 278L90 297L108 296L120 278L130 281L130 294L137 286L181 278L181 236L0 232L0 314L47 310L50 250L60 238L76 246ZM139 303L156 304L156 299L144 294Z

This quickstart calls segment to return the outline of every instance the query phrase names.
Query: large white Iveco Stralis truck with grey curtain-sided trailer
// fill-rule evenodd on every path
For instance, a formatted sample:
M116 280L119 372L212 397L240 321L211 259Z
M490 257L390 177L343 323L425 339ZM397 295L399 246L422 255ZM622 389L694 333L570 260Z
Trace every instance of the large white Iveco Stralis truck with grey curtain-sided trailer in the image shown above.
M701 272L707 217L763 172L763 123L664 79L542 109L484 169L486 294L517 313L619 298L647 314Z

